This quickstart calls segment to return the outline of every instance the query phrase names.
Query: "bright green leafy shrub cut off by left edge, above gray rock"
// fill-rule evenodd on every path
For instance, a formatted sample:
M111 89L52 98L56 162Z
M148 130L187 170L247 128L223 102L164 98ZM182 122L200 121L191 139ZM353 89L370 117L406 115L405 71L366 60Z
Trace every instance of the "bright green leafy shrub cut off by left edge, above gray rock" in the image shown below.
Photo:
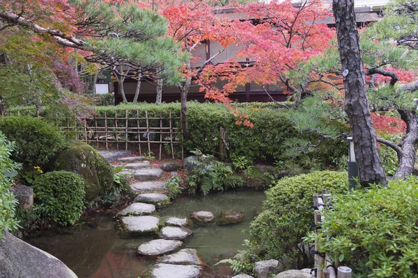
M10 192L11 177L16 173L19 165L9 158L13 150L13 143L0 132L0 240L3 240L3 231L17 229L15 210L17 201Z

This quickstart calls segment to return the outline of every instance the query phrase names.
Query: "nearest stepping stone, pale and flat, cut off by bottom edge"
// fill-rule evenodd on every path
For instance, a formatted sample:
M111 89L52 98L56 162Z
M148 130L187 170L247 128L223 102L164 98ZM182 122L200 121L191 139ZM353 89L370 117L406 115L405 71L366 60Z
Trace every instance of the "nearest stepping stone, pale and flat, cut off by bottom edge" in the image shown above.
M146 270L141 277L146 278L198 278L202 268L199 265L171 265L158 263Z

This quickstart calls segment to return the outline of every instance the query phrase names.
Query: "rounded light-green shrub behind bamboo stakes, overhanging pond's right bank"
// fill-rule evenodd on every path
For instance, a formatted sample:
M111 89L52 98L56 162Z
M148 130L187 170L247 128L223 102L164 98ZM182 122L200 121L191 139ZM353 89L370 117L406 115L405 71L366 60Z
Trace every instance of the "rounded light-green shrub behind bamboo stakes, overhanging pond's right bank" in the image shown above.
M346 172L320 171L286 177L266 191L265 210L250 224L249 236L261 247L265 259L277 259L291 268L313 265L309 252L313 245L302 244L314 222L314 193L326 188L329 193L348 190Z

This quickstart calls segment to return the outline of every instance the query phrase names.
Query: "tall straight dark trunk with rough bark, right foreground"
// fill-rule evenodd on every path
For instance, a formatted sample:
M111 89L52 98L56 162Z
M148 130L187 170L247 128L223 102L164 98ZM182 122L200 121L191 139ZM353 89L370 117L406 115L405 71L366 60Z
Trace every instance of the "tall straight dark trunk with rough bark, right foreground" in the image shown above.
M333 0L336 35L339 44L341 65L345 72L346 113L353 133L354 149L362 186L369 183L387 183L382 168L376 141L376 132L371 122L369 100L359 35L355 22L353 0Z

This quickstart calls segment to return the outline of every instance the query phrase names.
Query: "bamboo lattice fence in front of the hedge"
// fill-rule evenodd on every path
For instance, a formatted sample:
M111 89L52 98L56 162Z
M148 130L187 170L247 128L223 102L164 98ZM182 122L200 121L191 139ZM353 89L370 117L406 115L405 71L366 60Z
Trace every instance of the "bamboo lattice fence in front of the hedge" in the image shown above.
M134 113L135 111L133 111ZM171 153L174 159L175 145L181 148L183 158L183 133L180 126L180 117L172 115L169 111L168 116L149 117L148 111L136 111L132 116L132 111L124 113L115 112L114 116L108 116L104 111L101 117L91 119L74 120L60 119L55 124L68 137L75 137L96 147L116 147L119 149L137 149L139 155L143 153L150 156L151 145L159 147L159 158L162 158L162 149ZM11 113L7 115L12 116ZM20 116L20 113L17 113ZM43 118L38 113L38 117ZM123 147L122 147L123 146ZM148 152L144 152L144 149Z

